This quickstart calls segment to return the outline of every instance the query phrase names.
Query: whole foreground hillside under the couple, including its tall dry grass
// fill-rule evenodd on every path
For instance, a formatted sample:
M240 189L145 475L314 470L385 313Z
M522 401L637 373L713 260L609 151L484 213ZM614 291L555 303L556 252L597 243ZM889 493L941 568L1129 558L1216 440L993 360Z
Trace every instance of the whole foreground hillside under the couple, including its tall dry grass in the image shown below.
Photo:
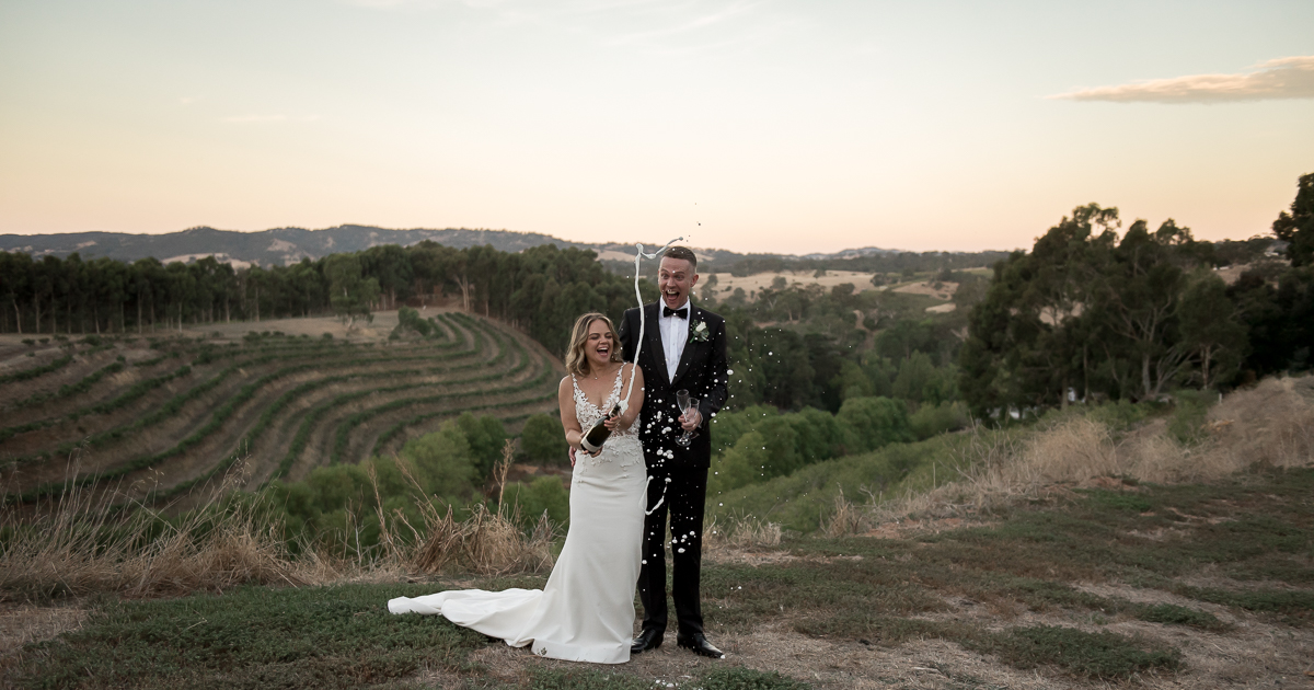
M1210 422L1206 435L1188 446L1167 419L1138 418L1127 406L1070 410L1035 427L941 439L959 452L861 460L905 465L912 490L867 506L840 497L823 509L817 532L782 535L779 524L720 517L706 526L702 590L708 635L725 660L668 644L619 666L569 664L440 616L389 614L385 602L398 595L543 586L537 557L539 566L422 565L435 544L453 548L453 535L460 541L482 530L485 548L505 547L493 544L502 535L489 530L497 518L486 513L469 520L478 530L455 532L435 531L444 524L438 515L424 524L427 536L417 535L422 541L364 565L292 557L268 540L264 523L227 518L244 539L214 544L189 535L229 551L223 568L192 574L202 582L192 589L209 591L184 597L133 595L139 582L130 577L121 578L125 590L92 589L124 598L21 601L16 593L30 590L13 585L33 582L14 576L35 573L32 553L50 557L51 549L16 548L0 561L0 582L13 587L0 589L0 616L13 622L0 639L0 681L147 689L1301 685L1314 645L1311 400L1309 379L1265 380L1198 415ZM1164 463L1168 456L1176 460ZM858 495L871 481L853 472L813 478L795 488L840 482ZM766 502L790 501L791 486L770 489L775 498L763 494ZM767 518L777 519L774 509ZM64 536L33 532L25 544ZM152 577L181 570L167 549L138 548ZM49 568L37 577L53 573L64 574Z

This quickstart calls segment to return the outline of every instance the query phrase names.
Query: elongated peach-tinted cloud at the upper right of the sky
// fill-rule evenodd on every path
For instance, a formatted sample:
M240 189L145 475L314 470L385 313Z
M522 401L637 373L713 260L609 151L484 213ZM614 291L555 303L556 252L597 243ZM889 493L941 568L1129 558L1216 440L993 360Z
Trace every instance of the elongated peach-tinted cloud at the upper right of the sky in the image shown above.
M1046 97L1071 101L1172 104L1314 99L1314 55L1268 60L1256 64L1255 71L1246 74L1148 79Z

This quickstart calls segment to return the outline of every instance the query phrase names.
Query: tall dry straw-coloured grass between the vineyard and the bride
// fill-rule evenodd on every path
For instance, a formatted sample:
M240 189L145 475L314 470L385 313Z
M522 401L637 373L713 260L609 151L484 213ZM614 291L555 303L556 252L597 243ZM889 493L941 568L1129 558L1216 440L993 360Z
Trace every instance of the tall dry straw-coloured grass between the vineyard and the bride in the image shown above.
M510 453L509 444L498 468L503 484ZM424 522L419 528L399 510L397 519L389 520L376 509L364 518L381 526L376 552L344 543L338 549L342 555L334 556L302 543L301 555L293 557L283 524L268 519L269 511L259 499L221 501L212 498L181 522L170 522L147 506L125 502L122 492L88 486L70 488L35 511L11 510L0 515L0 602L93 593L180 595L244 584L394 582L407 573L509 574L552 568L556 535L547 517L526 535L518 526L519 515L503 507L493 513L476 503L468 519L456 520L449 506L439 511L420 499ZM359 526L360 518L352 515L351 522ZM413 539L399 539L393 532L397 526L409 528Z

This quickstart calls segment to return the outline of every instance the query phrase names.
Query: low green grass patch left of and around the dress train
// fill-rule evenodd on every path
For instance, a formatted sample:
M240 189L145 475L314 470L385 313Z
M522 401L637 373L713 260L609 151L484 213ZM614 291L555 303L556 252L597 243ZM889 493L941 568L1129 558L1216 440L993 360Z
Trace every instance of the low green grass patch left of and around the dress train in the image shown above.
M360 687L422 668L468 669L477 632L393 615L432 585L265 589L109 602L76 632L30 645L18 687Z

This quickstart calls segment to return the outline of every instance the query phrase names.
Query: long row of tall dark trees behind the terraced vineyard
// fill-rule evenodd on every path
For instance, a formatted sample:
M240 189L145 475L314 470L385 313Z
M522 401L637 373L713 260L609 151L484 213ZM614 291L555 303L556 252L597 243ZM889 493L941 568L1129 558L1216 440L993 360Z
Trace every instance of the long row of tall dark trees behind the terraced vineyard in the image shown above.
M644 289L656 298L654 287L645 281ZM242 268L212 256L166 265L0 252L0 333L145 333L330 314L353 321L448 297L561 352L574 317L619 315L633 302L633 285L608 273L594 252L552 244L511 254L426 241Z

